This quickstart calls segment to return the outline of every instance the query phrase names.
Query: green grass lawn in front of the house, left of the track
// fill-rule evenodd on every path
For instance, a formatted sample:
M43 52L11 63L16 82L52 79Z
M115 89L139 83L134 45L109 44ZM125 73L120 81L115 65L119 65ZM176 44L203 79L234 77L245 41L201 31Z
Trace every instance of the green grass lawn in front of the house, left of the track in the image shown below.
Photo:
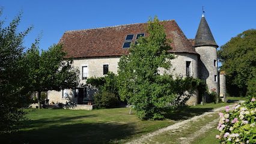
M186 106L166 115L162 121L143 121L130 108L97 110L40 109L27 115L27 127L0 135L1 143L124 143L142 134L195 115L201 115L227 103ZM203 139L203 138L202 138Z

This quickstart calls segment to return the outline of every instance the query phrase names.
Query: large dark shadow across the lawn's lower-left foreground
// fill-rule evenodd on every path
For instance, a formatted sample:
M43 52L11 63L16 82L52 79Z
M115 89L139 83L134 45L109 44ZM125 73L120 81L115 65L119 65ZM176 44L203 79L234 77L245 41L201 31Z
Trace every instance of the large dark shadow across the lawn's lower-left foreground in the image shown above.
M32 130L0 135L1 143L115 143L135 134L133 124L72 121L88 116L93 115L30 121Z

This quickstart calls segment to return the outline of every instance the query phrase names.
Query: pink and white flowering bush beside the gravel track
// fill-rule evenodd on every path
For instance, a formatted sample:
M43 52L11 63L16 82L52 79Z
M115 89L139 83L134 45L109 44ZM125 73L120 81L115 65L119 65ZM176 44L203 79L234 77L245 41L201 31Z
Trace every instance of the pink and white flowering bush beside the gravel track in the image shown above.
M226 106L224 113L219 113L221 119L217 129L221 132L216 138L221 143L256 143L256 102L249 98L243 104L234 107Z

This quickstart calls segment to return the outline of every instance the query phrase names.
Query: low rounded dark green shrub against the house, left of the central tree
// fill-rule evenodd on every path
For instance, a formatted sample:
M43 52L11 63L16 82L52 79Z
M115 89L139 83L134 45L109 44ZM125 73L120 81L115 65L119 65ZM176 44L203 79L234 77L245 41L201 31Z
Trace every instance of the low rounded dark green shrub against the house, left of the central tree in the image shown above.
M110 92L102 92L100 94L94 95L94 102L97 108L113 108L118 104L118 99L115 94Z

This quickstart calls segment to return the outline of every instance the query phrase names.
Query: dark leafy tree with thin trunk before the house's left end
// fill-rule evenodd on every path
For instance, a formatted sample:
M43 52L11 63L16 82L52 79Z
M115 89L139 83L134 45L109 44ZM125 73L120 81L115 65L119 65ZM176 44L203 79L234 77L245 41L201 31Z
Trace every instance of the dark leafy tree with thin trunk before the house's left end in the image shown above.
M38 92L38 109L41 108L40 96L42 91L61 91L74 89L79 85L79 70L74 68L73 59L64 59L66 52L62 45L50 46L48 50L41 50L32 44L24 56L27 70L25 85L30 91Z

